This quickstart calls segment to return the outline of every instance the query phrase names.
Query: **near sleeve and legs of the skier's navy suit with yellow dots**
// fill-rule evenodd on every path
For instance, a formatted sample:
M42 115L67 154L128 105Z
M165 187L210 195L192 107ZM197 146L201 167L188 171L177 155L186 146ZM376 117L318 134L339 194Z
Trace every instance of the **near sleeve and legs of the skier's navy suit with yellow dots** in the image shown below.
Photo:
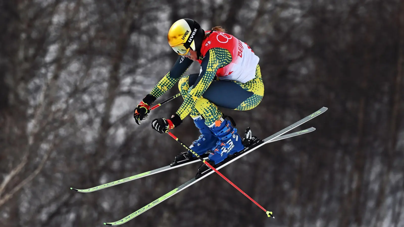
M191 117L202 115L205 118L205 124L209 126L222 117L217 106L249 110L261 102L264 85L259 65L255 71L255 78L246 83L215 79L216 70L230 62L231 54L228 50L213 48L204 56L200 74L183 76L179 80L178 87L184 98L183 104L177 111L181 119L188 114ZM204 70L204 63L206 70Z

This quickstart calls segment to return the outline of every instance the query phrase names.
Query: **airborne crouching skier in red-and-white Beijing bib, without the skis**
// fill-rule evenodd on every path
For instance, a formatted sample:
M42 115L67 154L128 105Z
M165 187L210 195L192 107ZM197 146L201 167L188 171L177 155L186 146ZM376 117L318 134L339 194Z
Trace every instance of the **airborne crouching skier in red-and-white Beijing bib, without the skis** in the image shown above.
M220 27L204 31L192 19L176 21L168 31L168 44L180 55L171 70L135 108L137 124L147 118L154 101L179 81L184 99L171 118L152 120L152 128L163 133L178 127L190 115L201 135L189 147L198 155L207 155L216 165L242 149L242 137L217 108L249 110L264 95L257 57L251 48ZM192 62L201 65L199 74L183 76ZM205 156L206 157L206 156ZM193 159L188 151L175 160ZM206 165L204 165L206 166Z

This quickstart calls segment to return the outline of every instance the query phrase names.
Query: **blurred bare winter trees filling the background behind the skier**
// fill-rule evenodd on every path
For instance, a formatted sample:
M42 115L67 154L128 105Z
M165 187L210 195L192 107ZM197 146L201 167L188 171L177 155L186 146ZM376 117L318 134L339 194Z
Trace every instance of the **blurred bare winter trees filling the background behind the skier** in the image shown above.
M69 189L166 166L184 151L150 127L181 98L133 120L177 59L166 34L181 18L222 25L260 57L261 104L222 109L240 131L265 138L329 109L298 128L316 131L221 170L276 219L213 174L125 226L404 226L404 0L1 0L2 225L101 226L194 177L199 163L93 193ZM198 137L190 118L173 133Z

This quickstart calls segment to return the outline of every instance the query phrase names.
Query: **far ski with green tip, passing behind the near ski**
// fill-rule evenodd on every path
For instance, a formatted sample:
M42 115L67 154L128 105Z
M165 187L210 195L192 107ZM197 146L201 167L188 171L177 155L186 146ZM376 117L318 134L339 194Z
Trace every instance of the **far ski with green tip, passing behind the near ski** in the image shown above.
M307 131L306 131L306 130L307 130ZM309 128L309 129L306 129L306 130L301 131L299 134L304 134L304 133L307 133L307 132L314 131L315 128ZM304 132L304 133L303 133L303 132ZM276 140L274 140L274 141L278 141L278 140L281 140L281 139L287 139L287 138L290 138L290 137L295 137L295 136L297 136L297 135L299 135L299 134L298 134L297 132L290 133L290 134L287 134L287 135L283 135L282 137L278 137L278 138L277 138ZM205 157L204 159L207 159L207 158L208 158L208 157ZM192 160L192 161L190 161L190 162L186 162L186 163L183 163L183 164L179 164L179 165L177 165L177 166L164 166L164 167L161 167L161 168L158 168L158 169L154 169L154 170L151 170L151 171L139 173L139 174L134 175L134 176L132 176L132 177L126 177L126 178L120 179L120 180L118 180L118 181L106 183L106 184L99 185L99 186L92 187L92 188L88 188L88 189L75 189L75 188L72 188L72 187L71 187L70 189L72 189L73 191L78 191L78 192L83 192L83 193L98 191L98 190L101 190L101 189L104 189L104 188L107 188L107 187L112 187L112 186L114 186L114 185L119 185L119 184L122 184L122 183L125 183L125 182L128 182L128 181L133 181L133 180L136 180L136 179L140 179L140 178L142 178L142 177L150 176L150 175L153 175L153 174L156 174L156 173L159 173L159 172L164 172L164 171L167 171L167 170L172 170L172 169L175 169L175 168L178 168L178 167L181 167L181 166L185 166L185 165L188 165L188 164L192 164L192 163L195 163L195 162L200 162L200 160L198 160L198 159Z

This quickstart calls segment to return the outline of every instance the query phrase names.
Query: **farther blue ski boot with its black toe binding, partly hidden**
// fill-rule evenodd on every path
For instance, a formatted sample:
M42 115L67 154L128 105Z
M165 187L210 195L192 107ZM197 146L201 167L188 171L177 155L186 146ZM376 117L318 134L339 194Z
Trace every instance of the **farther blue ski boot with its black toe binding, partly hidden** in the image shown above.
M194 119L195 126L199 129L201 135L199 138L192 142L189 146L195 153L197 153L202 158L206 158L208 153L206 152L212 150L219 139L213 134L213 132L209 129L209 127L205 124L205 119L199 118ZM196 160L196 156L189 153L188 151L182 152L175 157L175 161L171 163L171 166L175 166L177 164L183 164L190 160Z

